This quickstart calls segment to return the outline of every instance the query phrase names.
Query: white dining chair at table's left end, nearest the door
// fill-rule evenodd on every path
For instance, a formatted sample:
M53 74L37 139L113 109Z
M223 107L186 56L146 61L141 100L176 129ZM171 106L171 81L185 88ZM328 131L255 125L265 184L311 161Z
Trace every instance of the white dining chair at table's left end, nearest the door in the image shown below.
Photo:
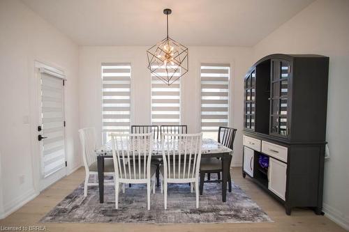
M89 183L90 175L98 175L96 132L94 127L86 127L80 129L79 134L82 144L82 160L84 161L85 169L84 196L87 196L87 187L98 185L98 183ZM104 174L105 176L114 176L114 164L112 159L104 159ZM114 185L114 183L105 183L105 185Z

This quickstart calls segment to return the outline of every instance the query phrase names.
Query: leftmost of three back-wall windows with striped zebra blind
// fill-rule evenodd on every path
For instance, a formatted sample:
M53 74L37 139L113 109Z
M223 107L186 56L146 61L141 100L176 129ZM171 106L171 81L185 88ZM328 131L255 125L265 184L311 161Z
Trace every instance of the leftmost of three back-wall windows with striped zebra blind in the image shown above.
M130 132L131 65L102 63L103 141L110 140L111 132Z

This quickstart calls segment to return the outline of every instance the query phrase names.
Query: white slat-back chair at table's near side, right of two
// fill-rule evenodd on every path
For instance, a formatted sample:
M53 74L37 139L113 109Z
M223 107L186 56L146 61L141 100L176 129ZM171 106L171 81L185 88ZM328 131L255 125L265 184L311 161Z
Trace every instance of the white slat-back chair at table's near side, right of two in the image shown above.
M190 183L199 208L199 169L202 133L161 134L163 166L160 168L161 193L168 208L168 183Z

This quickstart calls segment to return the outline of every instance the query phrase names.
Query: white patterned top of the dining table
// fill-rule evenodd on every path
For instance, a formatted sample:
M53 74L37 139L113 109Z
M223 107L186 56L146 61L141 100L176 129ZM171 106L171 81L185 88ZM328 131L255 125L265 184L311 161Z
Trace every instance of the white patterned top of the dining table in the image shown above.
M97 155L112 155L112 141L108 141L104 146L96 150ZM219 144L213 139L202 139L201 153L205 154L217 154L217 153L230 153L232 155L232 149ZM156 140L153 142L153 155L161 155L161 141Z

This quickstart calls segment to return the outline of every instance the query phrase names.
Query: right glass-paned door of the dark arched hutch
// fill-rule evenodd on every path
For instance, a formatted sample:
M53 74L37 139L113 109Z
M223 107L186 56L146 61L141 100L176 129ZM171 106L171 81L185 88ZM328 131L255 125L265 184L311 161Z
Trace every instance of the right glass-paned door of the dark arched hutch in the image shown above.
M290 61L272 60L270 134L288 137Z

